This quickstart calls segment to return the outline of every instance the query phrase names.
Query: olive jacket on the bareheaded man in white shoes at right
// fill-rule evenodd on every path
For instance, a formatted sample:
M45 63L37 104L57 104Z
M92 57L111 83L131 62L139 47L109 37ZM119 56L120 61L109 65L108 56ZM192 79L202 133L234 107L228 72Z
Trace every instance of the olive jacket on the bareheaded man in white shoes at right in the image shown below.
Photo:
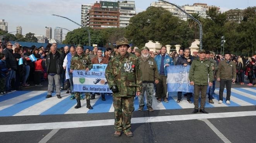
M236 63L232 60L227 63L226 59L220 61L218 63L217 78L227 80L236 79Z

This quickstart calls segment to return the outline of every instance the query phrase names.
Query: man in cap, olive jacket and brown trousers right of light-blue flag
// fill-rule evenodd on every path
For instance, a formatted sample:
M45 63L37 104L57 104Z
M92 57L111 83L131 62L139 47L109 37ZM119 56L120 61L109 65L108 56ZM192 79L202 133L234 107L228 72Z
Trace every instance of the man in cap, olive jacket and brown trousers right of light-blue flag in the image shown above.
M205 50L199 50L199 57L195 59L189 69L190 85L194 85L194 105L195 109L192 113L198 113L198 99L201 92L200 112L208 114L205 111L205 97L208 84L212 86L213 72L212 65L208 59L205 59ZM208 83L209 79L209 83Z

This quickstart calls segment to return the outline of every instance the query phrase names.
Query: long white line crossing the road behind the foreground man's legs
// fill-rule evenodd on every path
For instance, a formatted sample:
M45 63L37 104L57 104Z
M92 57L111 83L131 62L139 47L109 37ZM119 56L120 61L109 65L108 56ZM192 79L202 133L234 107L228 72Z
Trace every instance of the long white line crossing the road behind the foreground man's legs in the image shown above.
M131 123L132 124L152 123L152 122L165 122L165 121L183 121L183 120L193 120L193 119L231 118L231 117L243 117L243 116L256 116L256 111L140 117L140 118L132 118ZM114 124L114 119L104 119L104 120L94 120L94 121L35 123L35 124L8 124L8 125L0 125L0 132L83 128L83 127L93 127L93 126L110 126L113 124Z

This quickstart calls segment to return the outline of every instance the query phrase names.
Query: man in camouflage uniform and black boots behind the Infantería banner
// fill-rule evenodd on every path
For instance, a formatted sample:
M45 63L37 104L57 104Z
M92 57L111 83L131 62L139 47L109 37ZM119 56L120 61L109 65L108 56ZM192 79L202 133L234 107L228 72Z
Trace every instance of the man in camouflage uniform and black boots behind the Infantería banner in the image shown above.
M84 54L84 46L80 44L77 45L76 51L77 53L71 59L70 73L74 70L89 71L92 69L92 62L90 61L89 56ZM81 108L80 94L80 92L75 92L75 99L77 99L77 106L75 106L75 109ZM90 106L90 94L86 93L85 97L87 104L86 108L92 109L92 106Z

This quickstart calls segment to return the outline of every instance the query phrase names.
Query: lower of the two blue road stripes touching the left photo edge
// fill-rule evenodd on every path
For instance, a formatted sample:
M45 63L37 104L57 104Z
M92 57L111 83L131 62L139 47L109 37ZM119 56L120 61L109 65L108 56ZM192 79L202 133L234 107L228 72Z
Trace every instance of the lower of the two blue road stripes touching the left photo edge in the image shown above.
M30 99L24 100L18 104L10 106L0 111L0 116L13 116L14 114L19 113L20 111L33 106L36 103L39 103L45 100L45 95L47 92L39 94L38 96L32 97Z

